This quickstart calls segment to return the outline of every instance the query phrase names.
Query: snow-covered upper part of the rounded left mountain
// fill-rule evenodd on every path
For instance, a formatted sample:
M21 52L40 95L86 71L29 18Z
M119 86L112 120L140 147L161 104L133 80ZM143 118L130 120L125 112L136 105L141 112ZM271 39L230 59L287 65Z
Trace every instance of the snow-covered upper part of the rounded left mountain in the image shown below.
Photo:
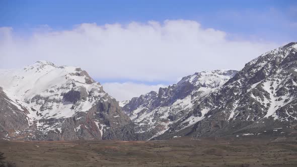
M105 95L102 86L81 68L57 67L48 61L38 61L24 69L0 71L0 86L24 102L28 110L44 111L43 117L70 117L77 110L87 111L94 99ZM76 92L80 94L77 100L87 101L88 106L79 105L67 96ZM77 106L71 107L66 101L77 102Z

